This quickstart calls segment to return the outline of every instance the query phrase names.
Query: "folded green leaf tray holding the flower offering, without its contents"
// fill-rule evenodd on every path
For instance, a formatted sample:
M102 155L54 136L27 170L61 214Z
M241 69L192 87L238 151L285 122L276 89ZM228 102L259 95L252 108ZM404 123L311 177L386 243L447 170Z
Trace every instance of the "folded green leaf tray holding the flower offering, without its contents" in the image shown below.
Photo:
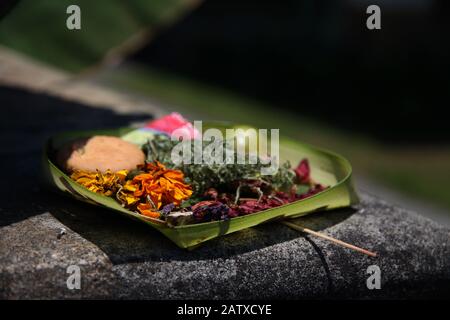
M223 123L204 123L203 127L204 129L214 127L222 130L226 128L249 128L248 126L227 125ZM168 226L159 220L151 219L123 208L113 198L89 191L73 181L53 161L55 151L63 144L76 138L99 134L119 136L139 145L144 143L147 138L151 139L153 135L152 133L148 133L146 136L143 136L135 128L120 128L115 130L67 132L54 136L49 139L44 150L44 172L47 177L47 182L60 191L69 193L81 201L103 206L142 221L157 229L181 248L193 248L204 241L268 221L296 218L319 210L346 207L358 202L358 197L351 180L352 169L346 159L333 152L280 137L281 160L298 163L301 159L307 158L314 181L329 186L329 188L303 200L246 216L239 216L227 221L205 222L175 227Z

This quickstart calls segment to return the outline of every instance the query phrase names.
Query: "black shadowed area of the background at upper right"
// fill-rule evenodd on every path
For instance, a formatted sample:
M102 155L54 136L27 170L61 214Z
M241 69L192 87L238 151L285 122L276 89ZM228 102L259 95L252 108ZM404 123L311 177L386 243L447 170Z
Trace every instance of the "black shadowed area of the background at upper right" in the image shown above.
M382 29L368 30L368 4ZM386 143L449 141L449 1L206 1L132 59Z

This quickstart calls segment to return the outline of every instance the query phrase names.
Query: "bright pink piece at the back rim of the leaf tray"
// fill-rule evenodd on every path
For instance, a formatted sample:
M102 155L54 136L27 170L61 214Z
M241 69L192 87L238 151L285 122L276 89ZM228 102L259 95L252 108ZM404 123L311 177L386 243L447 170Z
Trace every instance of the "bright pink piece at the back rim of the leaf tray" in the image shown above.
M177 134L188 139L197 139L200 137L200 132L188 120L177 112L150 121L145 125L145 128L161 131L167 134L172 134L177 130Z

